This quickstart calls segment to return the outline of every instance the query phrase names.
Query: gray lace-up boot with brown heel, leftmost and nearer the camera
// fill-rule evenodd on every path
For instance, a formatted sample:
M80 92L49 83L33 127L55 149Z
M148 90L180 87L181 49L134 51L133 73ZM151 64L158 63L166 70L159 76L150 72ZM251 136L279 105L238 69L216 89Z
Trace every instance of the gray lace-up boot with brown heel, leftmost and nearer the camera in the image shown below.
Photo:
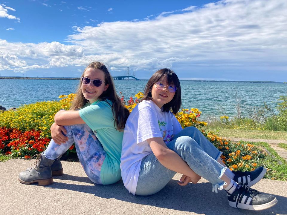
M54 160L50 160L42 154L37 154L36 161L34 162L34 167L29 171L20 172L18 175L18 180L22 184L32 184L35 182L38 182L40 186L52 184L53 176L50 166L53 162Z

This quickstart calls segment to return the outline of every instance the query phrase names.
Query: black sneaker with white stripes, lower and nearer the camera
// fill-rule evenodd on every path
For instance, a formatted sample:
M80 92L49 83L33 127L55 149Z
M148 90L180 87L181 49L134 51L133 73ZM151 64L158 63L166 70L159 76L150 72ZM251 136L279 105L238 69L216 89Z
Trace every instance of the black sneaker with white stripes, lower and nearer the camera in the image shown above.
M251 189L246 184L236 186L232 194L227 193L228 204L233 208L259 211L272 207L277 203L274 196L261 194L255 189Z

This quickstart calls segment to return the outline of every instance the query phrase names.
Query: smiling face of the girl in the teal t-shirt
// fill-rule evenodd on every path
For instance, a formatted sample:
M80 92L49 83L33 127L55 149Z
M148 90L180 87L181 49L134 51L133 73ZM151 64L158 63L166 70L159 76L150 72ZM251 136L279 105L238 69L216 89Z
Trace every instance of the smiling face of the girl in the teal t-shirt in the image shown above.
M103 82L100 87L95 87L92 81L86 85L83 83L81 85L82 93L85 99L87 99L90 103L93 103L97 101L99 96L102 95L102 93L106 91L109 87L108 84L106 85L104 83L105 74L102 70L94 69L94 68L87 68L83 77L87 77L91 80L99 79Z

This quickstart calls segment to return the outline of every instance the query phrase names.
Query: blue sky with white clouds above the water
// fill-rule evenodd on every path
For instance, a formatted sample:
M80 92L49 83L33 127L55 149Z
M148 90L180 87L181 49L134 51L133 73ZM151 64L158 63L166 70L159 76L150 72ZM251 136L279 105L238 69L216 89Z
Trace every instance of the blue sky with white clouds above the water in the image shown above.
M287 1L0 0L0 76L287 82Z

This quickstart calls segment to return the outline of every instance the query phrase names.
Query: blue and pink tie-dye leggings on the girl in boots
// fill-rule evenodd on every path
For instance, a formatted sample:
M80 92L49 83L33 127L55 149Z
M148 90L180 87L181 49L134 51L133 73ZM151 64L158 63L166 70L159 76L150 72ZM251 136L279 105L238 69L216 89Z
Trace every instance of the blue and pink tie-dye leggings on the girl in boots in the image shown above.
M59 145L51 139L43 155L48 159L55 160L75 143L78 158L88 178L96 184L103 184L101 168L106 158L106 151L100 141L87 124L64 127L67 130L68 141Z

